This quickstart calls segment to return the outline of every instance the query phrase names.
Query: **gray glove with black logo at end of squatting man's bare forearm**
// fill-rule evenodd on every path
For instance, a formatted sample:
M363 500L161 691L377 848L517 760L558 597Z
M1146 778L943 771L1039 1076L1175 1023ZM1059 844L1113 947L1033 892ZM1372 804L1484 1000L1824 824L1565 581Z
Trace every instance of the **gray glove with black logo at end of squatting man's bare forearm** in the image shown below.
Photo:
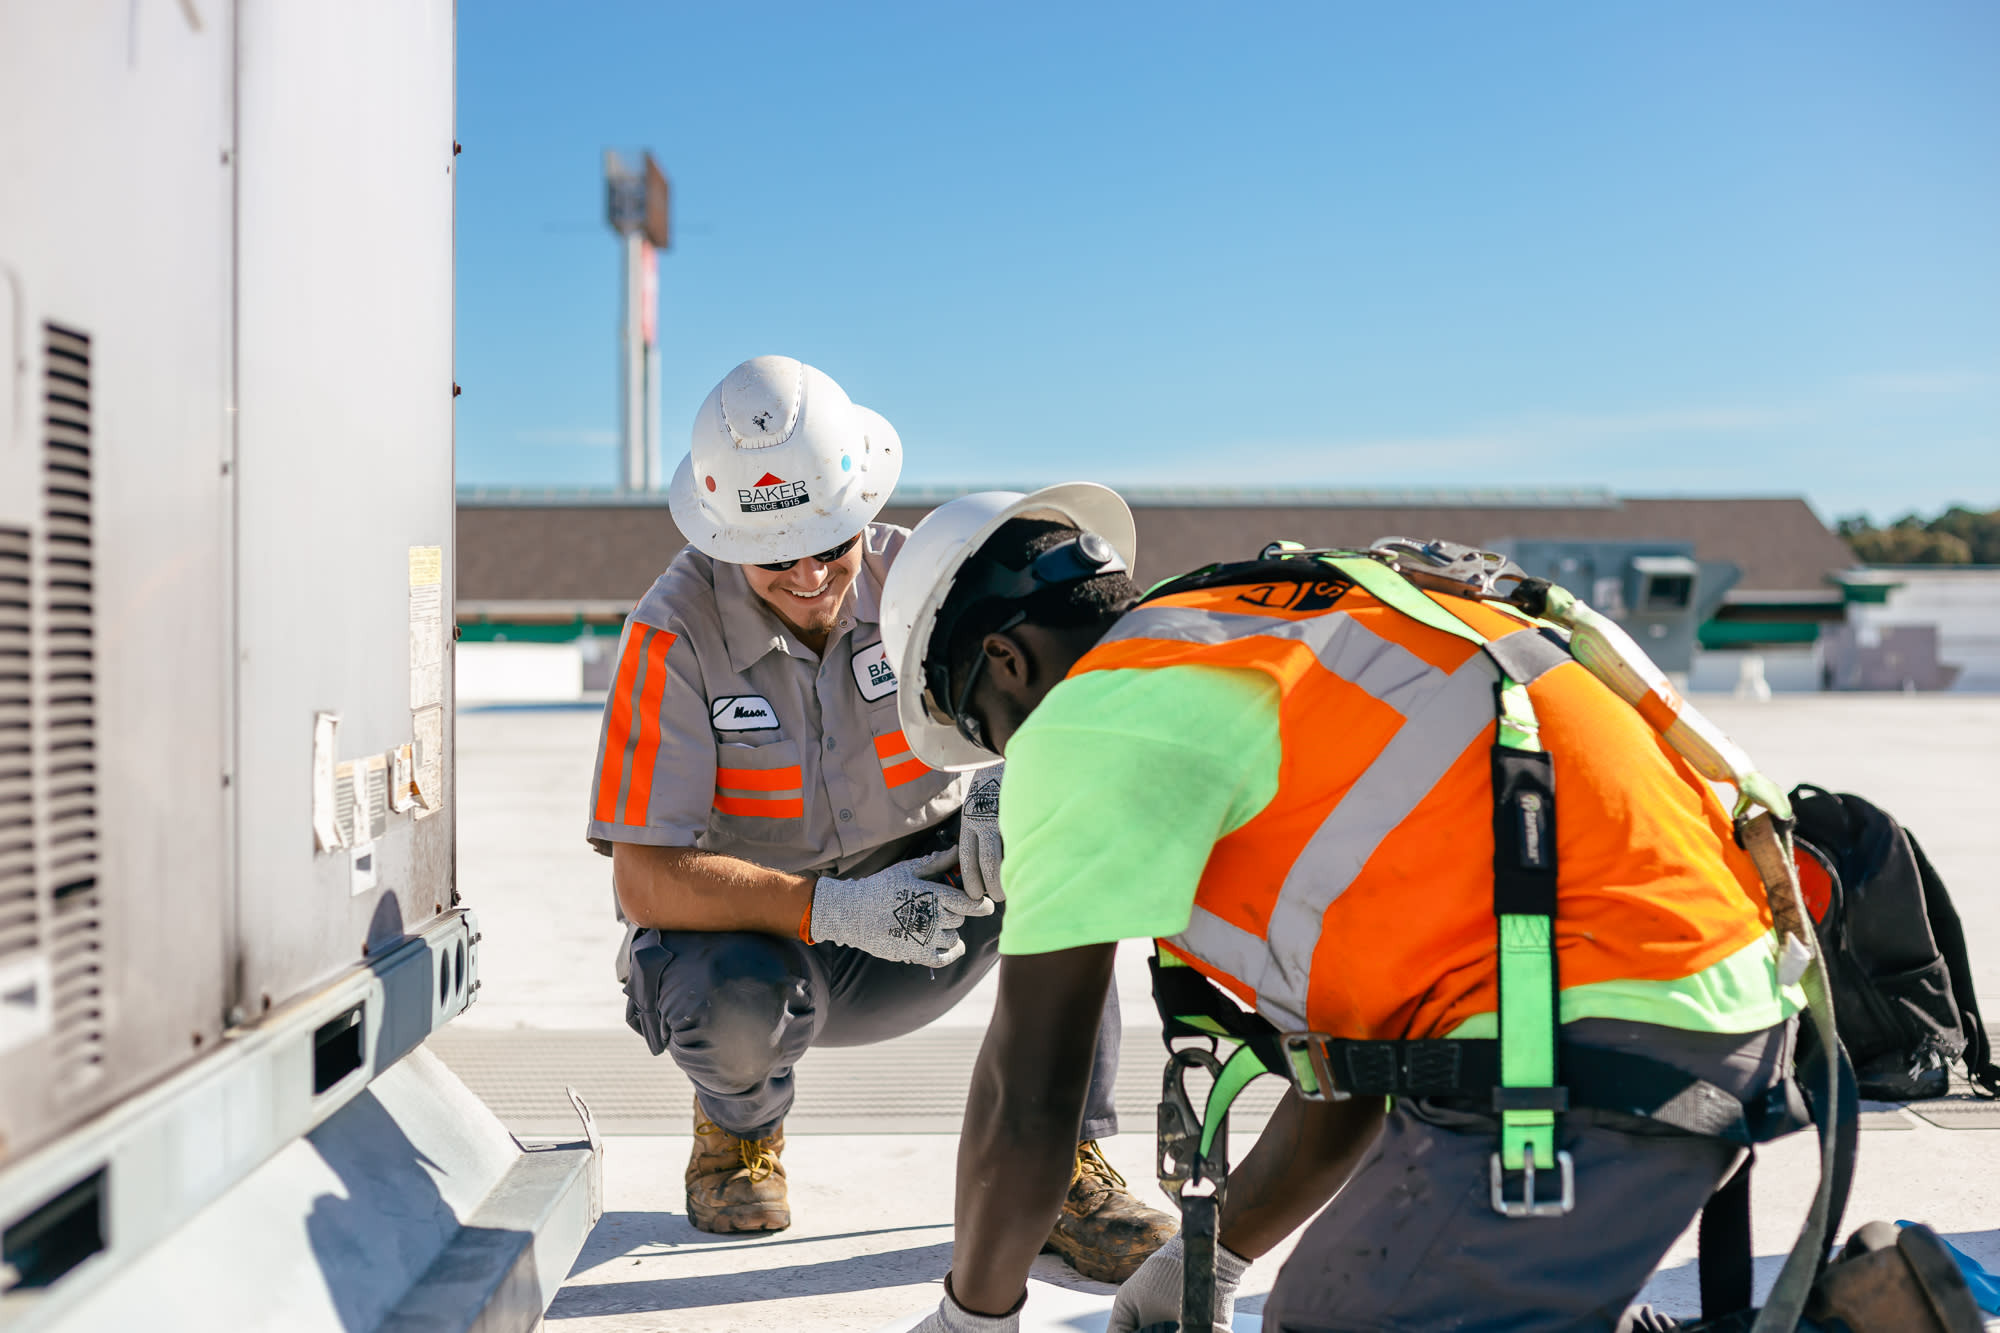
M862 879L820 879L812 887L812 939L864 949L890 963L944 967L966 953L958 927L986 917L992 903L932 883L958 867L958 849L898 861Z

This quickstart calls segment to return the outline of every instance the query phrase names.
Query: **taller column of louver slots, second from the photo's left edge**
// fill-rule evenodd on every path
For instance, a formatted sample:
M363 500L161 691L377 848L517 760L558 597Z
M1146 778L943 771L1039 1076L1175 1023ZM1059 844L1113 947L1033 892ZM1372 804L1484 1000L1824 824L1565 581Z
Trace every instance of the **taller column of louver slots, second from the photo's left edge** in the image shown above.
M96 640L90 540L90 338L46 326L40 789L58 1087L104 1073Z

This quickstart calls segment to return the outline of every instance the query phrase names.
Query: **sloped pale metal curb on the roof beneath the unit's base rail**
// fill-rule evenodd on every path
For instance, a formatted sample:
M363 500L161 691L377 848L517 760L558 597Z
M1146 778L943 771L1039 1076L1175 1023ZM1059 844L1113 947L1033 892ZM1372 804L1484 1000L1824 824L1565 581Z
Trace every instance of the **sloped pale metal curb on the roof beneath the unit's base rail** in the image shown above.
M522 1149L428 1051L230 1187L40 1333L538 1329L592 1225L588 1117ZM14 1325L8 1325L14 1333Z

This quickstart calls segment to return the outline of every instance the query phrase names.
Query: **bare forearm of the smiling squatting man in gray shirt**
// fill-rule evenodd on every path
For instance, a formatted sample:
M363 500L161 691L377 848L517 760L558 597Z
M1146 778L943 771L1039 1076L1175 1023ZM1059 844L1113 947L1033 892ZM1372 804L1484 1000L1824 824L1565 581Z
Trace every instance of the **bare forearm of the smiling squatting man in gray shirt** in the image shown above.
M612 883L632 925L796 939L818 881L694 847L612 843Z

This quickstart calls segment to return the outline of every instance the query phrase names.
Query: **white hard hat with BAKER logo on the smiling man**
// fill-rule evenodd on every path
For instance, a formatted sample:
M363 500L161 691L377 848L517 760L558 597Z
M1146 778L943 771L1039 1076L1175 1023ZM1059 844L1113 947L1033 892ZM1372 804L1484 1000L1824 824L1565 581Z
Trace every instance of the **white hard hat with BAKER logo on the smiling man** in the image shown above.
M694 414L666 504L698 550L730 564L838 546L888 504L902 440L824 370L756 356Z

